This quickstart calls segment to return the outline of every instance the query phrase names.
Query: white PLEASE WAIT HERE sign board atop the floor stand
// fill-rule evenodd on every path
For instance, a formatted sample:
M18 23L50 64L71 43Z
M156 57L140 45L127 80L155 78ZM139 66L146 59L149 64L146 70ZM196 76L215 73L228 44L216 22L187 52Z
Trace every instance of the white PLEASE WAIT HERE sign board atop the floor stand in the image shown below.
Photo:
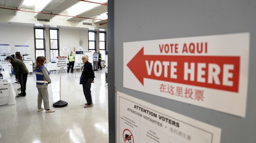
M67 74L67 56L57 56L56 69L57 75L65 75Z

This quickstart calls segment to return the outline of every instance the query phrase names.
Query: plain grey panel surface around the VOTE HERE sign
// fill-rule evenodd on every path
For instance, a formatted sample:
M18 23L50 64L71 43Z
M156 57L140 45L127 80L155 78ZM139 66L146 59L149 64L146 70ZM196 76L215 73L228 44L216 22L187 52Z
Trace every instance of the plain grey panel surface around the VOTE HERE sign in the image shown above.
M116 0L114 11L118 91L221 128L221 143L256 143L256 0ZM239 32L250 32L246 118L123 87L123 42Z

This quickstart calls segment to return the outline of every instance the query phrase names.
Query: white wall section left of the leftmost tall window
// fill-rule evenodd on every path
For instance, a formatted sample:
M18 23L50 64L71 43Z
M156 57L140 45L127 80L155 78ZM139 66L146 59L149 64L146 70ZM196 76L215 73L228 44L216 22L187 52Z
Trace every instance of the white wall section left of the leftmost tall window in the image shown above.
M34 28L26 25L0 24L0 44L10 44L11 54L14 45L29 45L32 60L35 62Z

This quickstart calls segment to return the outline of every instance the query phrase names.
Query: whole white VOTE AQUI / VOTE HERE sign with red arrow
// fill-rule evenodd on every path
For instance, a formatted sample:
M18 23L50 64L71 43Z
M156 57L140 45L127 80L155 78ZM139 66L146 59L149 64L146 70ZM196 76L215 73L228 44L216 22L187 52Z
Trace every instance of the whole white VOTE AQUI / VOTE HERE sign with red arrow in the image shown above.
M123 86L245 117L249 33L123 43Z

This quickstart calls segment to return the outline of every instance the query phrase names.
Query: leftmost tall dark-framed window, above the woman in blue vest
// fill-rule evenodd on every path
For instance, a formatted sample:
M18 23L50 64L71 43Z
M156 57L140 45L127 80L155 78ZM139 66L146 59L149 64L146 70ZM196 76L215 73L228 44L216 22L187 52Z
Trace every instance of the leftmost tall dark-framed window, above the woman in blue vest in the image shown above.
M34 28L35 34L35 58L45 56L45 30L44 28Z

